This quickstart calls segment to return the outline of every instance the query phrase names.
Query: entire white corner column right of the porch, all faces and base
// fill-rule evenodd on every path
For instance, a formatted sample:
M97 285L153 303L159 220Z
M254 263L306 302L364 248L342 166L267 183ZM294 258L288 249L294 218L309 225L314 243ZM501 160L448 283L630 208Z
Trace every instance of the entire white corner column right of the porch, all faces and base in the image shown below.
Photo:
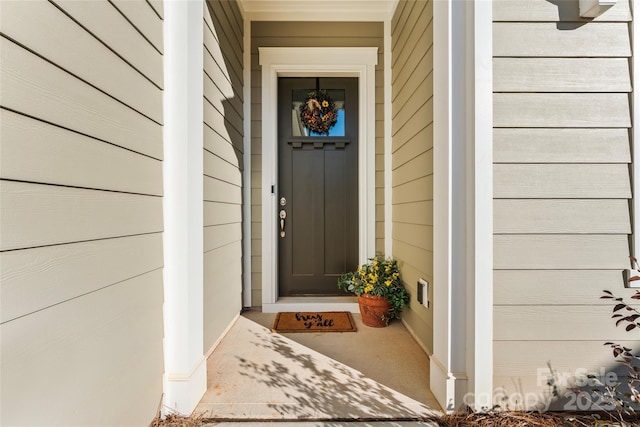
M434 338L431 390L447 410L491 406L491 2L434 13Z

